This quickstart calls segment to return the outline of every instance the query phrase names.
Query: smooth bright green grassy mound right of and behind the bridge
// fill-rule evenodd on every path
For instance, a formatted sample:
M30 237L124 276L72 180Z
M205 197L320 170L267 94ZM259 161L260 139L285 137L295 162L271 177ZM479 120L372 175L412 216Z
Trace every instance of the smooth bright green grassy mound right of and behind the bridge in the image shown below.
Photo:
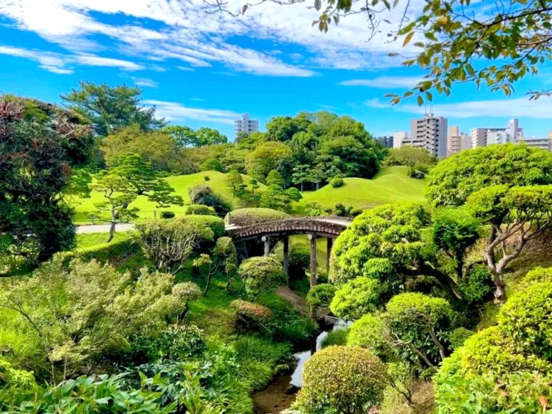
M337 203L355 208L372 208L397 200L424 202L425 182L406 175L406 167L383 168L373 179L345 178L344 186L324 186L317 191L308 191L294 206L295 214L302 214L306 204L317 202L324 208Z

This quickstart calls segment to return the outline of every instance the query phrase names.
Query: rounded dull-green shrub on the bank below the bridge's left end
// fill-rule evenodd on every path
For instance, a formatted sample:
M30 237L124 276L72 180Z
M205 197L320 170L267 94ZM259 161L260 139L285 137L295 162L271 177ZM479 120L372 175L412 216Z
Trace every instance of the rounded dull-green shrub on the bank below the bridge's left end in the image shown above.
M264 289L285 283L282 264L274 257L251 257L239 265L239 278L243 281L242 295L257 299Z

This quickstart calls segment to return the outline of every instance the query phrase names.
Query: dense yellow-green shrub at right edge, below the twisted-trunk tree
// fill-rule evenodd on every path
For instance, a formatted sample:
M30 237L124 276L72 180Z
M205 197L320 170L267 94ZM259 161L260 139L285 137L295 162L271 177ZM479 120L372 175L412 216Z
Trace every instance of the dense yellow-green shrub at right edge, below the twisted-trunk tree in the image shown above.
M531 275L536 278L536 274ZM537 282L510 297L498 324L516 348L552 362L552 284Z

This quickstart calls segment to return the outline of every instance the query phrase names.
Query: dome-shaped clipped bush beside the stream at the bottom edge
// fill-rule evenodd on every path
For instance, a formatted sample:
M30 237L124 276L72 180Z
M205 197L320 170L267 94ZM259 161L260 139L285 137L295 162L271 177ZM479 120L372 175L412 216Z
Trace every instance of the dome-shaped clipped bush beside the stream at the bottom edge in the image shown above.
M363 414L382 401L386 368L371 351L329 346L308 359L297 404L304 413Z

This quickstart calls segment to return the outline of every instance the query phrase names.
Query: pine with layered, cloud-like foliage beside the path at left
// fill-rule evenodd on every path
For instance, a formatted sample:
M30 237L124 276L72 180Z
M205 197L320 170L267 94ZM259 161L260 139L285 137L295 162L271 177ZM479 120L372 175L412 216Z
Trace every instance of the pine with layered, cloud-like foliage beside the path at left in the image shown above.
M124 155L119 158L117 166L101 170L92 189L101 193L105 199L95 204L96 208L110 213L108 242L115 236L118 222L137 218L139 209L128 206L138 195L145 195L150 201L154 201L155 208L164 208L171 204L184 205L182 197L172 195L174 188L159 177L150 164L135 154Z

